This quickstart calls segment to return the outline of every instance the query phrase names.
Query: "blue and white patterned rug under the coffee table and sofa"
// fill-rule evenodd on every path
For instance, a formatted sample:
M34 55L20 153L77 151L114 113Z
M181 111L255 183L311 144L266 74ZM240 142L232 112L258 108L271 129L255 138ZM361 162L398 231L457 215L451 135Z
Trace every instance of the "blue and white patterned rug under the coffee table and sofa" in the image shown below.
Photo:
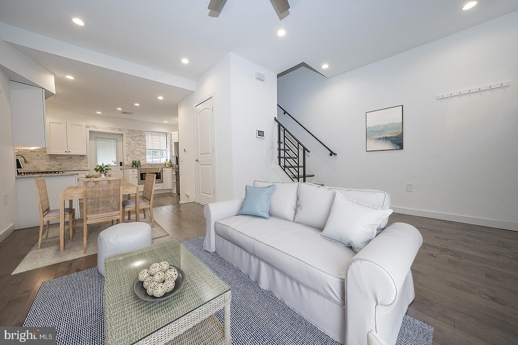
M338 344L217 253L202 249L204 237L182 244L232 290L233 344ZM76 289L75 287L81 287ZM56 327L56 344L105 344L104 277L89 268L41 284L23 326ZM223 320L223 312L216 316ZM434 327L405 316L397 344L431 344Z

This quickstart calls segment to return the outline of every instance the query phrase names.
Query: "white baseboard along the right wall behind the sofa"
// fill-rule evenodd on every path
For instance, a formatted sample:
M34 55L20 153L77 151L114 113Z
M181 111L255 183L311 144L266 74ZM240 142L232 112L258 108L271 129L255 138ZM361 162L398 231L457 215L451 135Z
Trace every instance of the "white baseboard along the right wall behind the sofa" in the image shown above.
M470 216L459 216L459 215L452 215L452 214L448 214L448 213L423 211L421 209L412 209L412 208L395 207L395 206L391 206L391 208L394 210L394 212L402 213L405 215L420 216L420 217L442 219L442 220L451 220L451 221L456 221L456 222L460 222L460 223L481 225L484 227L518 231L518 223L506 221L506 220L486 219L486 218L477 218L477 217L470 217Z

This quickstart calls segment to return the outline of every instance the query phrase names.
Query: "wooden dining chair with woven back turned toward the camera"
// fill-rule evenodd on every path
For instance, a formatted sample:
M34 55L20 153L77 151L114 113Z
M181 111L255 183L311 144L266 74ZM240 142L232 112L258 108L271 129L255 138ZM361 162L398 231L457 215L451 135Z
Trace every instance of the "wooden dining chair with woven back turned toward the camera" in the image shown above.
M124 221L122 178L89 178L83 192L83 253L87 253L88 224L106 220Z

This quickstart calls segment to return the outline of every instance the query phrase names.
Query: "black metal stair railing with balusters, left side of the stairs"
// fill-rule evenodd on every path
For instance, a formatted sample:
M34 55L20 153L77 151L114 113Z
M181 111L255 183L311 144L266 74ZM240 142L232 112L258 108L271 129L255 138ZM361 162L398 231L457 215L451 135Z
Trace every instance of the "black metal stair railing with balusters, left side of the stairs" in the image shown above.
M277 156L279 167L292 181L306 182L306 153L309 149L298 140L279 120L277 122ZM300 164L302 160L302 164Z

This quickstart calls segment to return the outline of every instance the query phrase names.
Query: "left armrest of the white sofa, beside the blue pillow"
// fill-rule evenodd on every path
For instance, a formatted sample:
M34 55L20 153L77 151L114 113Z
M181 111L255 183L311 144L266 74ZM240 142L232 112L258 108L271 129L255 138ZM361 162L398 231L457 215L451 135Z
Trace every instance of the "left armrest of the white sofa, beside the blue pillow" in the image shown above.
M219 201L205 205L203 209L206 221L205 243L203 246L205 250L210 252L216 251L216 244L214 242L214 223L220 219L237 215L242 205L243 199Z

